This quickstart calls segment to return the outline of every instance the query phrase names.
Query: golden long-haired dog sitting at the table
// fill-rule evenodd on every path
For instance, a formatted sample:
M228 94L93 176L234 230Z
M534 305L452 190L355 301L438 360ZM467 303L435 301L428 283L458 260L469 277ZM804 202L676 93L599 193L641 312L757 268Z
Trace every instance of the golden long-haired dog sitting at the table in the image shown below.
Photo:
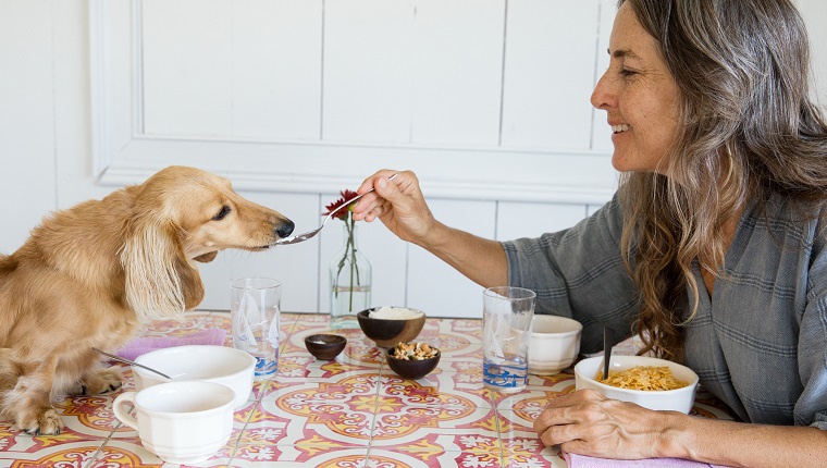
M225 178L183 167L47 217L0 256L0 417L60 433L53 396L121 386L92 347L115 352L140 322L195 308L203 284L194 260L262 250L292 231Z

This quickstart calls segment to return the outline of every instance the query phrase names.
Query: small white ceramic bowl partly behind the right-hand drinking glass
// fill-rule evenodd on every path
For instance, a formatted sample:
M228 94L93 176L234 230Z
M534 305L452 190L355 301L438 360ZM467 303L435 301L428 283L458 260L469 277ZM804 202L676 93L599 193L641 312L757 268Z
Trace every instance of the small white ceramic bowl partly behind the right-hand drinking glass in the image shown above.
M583 325L575 319L535 315L531 321L529 372L553 375L571 366L580 353Z

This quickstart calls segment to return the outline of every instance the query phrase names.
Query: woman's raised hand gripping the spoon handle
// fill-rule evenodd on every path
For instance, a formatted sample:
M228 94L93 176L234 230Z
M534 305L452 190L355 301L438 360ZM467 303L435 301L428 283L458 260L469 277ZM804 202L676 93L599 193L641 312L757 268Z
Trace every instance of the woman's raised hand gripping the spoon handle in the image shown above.
M393 180L390 177L397 174ZM353 208L354 219L371 222L379 218L400 239L424 246L437 225L425 204L419 180L411 171L383 169L369 176L356 190L371 192Z

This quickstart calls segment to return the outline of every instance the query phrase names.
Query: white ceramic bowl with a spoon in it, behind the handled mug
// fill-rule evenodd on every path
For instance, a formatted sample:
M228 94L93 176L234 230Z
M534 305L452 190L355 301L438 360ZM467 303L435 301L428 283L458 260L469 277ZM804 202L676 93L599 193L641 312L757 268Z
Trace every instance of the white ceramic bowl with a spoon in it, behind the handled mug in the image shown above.
M247 403L252 391L252 371L256 358L249 353L227 346L186 345L151 350L135 358L135 362L149 366L170 375L172 380L215 382L235 392L234 408ZM135 390L140 392L169 380L132 366Z

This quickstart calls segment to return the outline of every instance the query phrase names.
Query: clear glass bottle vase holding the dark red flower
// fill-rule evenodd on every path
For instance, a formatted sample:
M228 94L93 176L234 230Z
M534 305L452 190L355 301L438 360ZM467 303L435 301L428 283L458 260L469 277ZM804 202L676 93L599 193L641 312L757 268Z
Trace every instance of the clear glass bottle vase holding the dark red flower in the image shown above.
M330 262L332 329L358 329L356 315L370 307L371 266L359 250L356 223L345 221L344 247Z

